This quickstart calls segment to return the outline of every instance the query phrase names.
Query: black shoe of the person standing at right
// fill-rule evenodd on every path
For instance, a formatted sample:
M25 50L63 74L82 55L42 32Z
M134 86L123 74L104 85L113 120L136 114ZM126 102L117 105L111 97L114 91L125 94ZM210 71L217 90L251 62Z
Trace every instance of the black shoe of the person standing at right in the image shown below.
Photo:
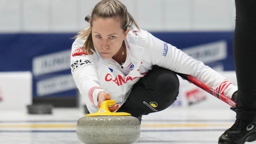
M219 137L218 144L244 144L255 140L256 122L236 119L234 125Z

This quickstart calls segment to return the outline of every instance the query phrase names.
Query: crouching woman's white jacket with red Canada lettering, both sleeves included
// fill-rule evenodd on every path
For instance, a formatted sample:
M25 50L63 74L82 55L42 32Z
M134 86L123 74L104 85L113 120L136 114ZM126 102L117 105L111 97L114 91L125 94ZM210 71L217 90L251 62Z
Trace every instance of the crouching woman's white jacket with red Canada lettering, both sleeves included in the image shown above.
M82 52L84 42L85 38L73 42L71 73L78 90L85 97L90 113L97 111L97 95L101 91L109 93L117 103L123 104L133 85L145 76L153 65L191 75L230 98L237 91L237 86L232 85L209 66L147 31L129 31L125 40L127 57L122 65L123 69L113 59L103 59L97 50L94 54Z

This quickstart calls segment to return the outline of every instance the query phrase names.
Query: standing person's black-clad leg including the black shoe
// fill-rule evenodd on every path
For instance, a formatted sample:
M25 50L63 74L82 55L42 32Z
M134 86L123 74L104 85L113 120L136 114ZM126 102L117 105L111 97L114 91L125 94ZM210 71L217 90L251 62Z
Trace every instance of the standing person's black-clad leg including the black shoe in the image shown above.
M219 144L256 140L256 0L235 0L233 54L237 74L237 120L219 138Z

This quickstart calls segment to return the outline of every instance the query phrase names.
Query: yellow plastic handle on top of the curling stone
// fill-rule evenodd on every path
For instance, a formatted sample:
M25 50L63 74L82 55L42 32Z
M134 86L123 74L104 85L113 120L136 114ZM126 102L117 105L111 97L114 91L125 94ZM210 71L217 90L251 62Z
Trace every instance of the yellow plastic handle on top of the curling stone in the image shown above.
M89 113L85 116L131 116L130 113L124 112L114 112L109 111L109 106L114 106L116 104L115 100L106 100L102 102L100 109L96 113Z

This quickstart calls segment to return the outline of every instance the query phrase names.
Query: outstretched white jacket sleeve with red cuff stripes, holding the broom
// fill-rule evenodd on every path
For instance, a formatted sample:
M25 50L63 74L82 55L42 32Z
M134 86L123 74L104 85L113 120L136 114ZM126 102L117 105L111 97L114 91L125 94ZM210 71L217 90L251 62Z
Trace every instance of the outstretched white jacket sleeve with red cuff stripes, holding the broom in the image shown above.
M147 34L147 50L152 65L190 75L229 98L232 98L232 94L237 91L237 86L209 66L204 65L203 62L193 59L173 45L154 37L151 33Z

